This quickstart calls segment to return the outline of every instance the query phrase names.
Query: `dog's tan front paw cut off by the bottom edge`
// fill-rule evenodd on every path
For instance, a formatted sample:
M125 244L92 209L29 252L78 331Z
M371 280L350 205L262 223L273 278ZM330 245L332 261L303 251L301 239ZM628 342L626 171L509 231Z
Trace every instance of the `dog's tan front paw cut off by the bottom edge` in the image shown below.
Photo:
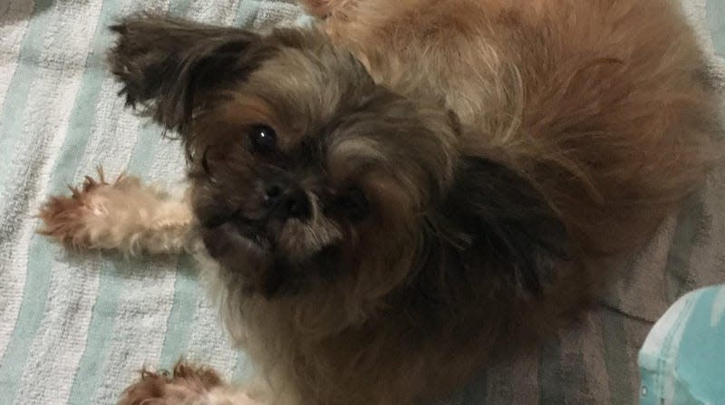
M197 405L223 385L216 371L179 362L172 372L141 371L140 380L123 391L119 405Z

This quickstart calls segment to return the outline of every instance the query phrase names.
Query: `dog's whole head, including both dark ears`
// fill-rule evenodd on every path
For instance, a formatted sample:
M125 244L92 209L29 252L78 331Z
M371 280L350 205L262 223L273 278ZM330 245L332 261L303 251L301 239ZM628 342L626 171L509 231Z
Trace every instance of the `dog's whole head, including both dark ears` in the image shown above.
M539 288L561 224L514 170L467 152L438 102L376 84L314 30L114 30L122 92L181 135L208 253L247 293L378 299L493 274Z

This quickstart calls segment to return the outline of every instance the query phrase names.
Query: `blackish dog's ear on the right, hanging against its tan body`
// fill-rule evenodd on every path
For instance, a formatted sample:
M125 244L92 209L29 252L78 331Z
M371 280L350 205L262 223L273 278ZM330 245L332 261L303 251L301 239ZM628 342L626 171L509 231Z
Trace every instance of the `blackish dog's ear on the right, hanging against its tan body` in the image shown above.
M444 284L477 288L496 271L503 283L536 296L556 277L556 264L571 260L565 226L545 198L527 178L490 159L463 158L429 220L444 245L437 258L447 273L437 277L449 279Z

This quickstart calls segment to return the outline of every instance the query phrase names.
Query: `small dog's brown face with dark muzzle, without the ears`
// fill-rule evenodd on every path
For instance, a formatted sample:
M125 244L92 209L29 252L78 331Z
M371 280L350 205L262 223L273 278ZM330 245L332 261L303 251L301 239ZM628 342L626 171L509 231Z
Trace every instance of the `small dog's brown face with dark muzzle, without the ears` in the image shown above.
M371 252L389 266L411 256L420 213L452 177L445 111L374 85L346 53L315 51L275 49L191 123L208 253L267 295L378 267Z

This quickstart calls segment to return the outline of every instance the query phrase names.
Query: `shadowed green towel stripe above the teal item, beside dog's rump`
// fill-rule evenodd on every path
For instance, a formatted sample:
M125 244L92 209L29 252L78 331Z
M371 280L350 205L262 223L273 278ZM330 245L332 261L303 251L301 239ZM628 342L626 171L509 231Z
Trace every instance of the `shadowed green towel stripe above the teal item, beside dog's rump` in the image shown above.
M705 204L701 193L687 198L681 206L674 229L672 246L664 267L667 285L667 302L674 303L682 294L694 288L690 275L692 250L701 236L704 226Z

